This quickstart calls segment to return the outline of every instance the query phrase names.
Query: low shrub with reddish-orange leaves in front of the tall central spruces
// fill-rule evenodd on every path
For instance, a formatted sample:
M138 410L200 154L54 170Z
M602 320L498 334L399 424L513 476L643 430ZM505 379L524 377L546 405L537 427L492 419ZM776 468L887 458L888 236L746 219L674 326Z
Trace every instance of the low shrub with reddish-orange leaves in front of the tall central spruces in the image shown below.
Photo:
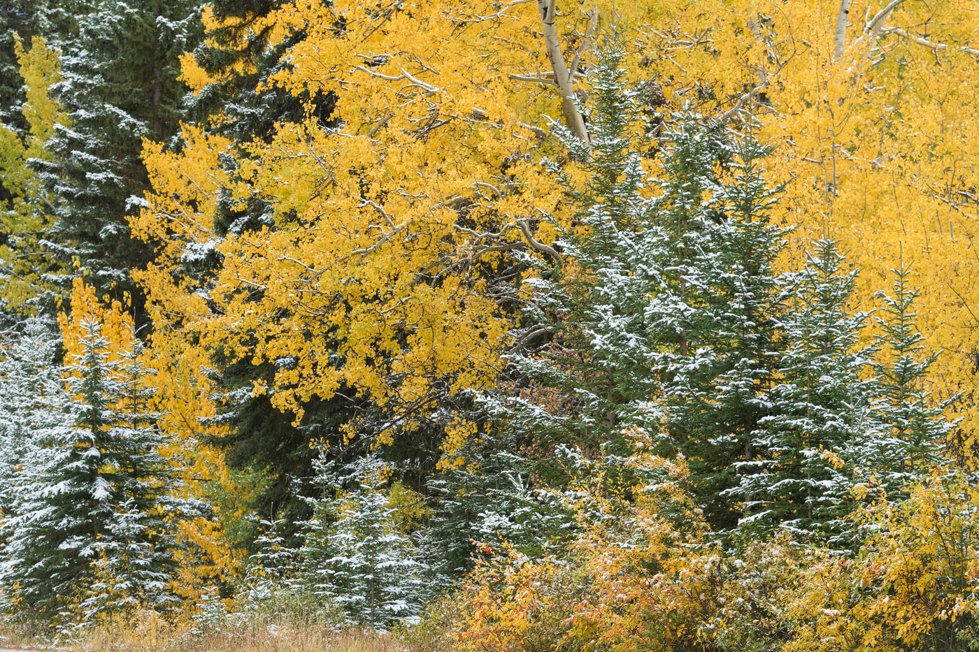
M599 465L600 466L600 465ZM567 559L489 552L464 584L465 650L768 650L820 555L786 536L740 557L710 540L682 460L636 454L587 469L565 496L581 530Z

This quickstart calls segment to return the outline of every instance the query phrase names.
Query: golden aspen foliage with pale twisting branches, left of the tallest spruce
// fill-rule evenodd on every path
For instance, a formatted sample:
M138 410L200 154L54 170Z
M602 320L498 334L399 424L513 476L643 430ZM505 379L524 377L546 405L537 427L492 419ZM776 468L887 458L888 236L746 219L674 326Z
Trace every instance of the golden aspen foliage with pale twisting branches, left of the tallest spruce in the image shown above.
M437 396L487 387L512 323L487 272L519 240L515 220L559 197L533 160L528 123L550 95L507 76L541 64L539 19L525 4L274 10L264 19L273 36L306 36L273 83L336 93L342 127L310 104L269 141L232 146L187 126L179 155L147 144L154 192L132 224L163 245L139 274L157 327L232 360L290 360L256 393L298 419L304 401L349 388L410 427ZM221 197L235 211L261 207L267 226L220 234ZM222 260L214 278L180 274L204 245Z

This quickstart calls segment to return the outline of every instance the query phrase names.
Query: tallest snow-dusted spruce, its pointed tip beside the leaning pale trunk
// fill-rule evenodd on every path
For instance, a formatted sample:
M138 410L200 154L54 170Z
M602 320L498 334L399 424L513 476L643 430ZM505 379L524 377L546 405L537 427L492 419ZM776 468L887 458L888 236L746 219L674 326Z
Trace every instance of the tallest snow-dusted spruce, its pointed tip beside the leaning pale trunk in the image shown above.
M539 276L531 281L522 319L528 326L515 334L509 357L526 390L487 403L501 428L590 449L621 443L629 424L650 423L647 409L658 388L651 368L657 343L643 317L662 270L659 260L648 259L663 249L653 242L660 230L650 230L653 189L643 168L653 146L636 93L624 84L620 57L606 51L589 72L595 102L590 146L555 127L583 168L580 185L571 171L551 163L580 207L578 223L563 228L553 219L565 262L536 262Z

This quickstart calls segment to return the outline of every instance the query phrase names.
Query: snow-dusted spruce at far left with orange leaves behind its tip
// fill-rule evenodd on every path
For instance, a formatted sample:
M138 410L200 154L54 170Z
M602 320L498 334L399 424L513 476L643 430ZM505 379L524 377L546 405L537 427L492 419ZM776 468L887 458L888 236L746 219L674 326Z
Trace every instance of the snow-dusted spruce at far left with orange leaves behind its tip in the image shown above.
M38 409L39 445L24 464L3 551L4 587L23 615L92 621L135 605L165 607L174 526L190 505L172 495L157 415L147 409L140 343L119 360L101 323L82 323L67 391Z

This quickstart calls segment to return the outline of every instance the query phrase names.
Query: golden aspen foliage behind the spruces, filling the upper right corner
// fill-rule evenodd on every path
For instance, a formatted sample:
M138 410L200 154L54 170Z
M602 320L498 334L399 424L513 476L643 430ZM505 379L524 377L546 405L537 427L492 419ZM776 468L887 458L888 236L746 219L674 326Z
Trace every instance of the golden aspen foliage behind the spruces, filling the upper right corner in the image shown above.
M653 4L653 3L640 3ZM841 6L849 8L843 30ZM643 64L675 106L751 108L790 182L776 221L798 226L787 268L816 237L861 268L859 303L913 263L920 328L946 354L940 396L970 392L979 325L975 258L979 14L974 2L725 0L674 4L643 29ZM716 109L712 110L712 107ZM975 445L974 401L956 453Z

